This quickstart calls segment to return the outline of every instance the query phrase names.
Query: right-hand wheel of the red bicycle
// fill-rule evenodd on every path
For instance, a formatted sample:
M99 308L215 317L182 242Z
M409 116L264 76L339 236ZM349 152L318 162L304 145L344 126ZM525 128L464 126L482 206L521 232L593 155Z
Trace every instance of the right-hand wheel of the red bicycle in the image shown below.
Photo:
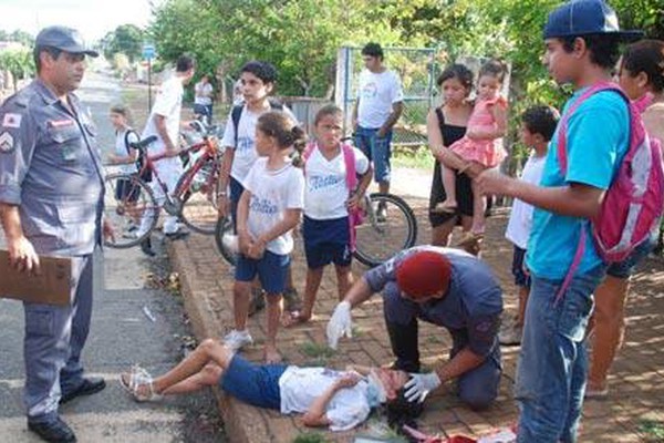
M217 174L215 165L209 161L191 176L188 169L177 183L176 189L186 187L179 194L181 203L180 218L191 230L212 235L217 226ZM187 183L188 182L188 183Z

